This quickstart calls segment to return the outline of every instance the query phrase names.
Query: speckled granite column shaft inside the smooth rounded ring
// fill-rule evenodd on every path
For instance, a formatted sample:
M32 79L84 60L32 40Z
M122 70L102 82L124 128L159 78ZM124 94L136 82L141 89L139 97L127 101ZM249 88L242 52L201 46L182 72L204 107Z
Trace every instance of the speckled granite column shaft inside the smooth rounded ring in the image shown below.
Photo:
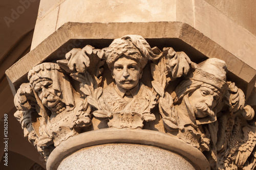
M156 158L161 158L161 161ZM110 170L195 169L187 160L175 153L156 147L127 143L97 145L86 148L62 160L58 166L58 170L83 168Z

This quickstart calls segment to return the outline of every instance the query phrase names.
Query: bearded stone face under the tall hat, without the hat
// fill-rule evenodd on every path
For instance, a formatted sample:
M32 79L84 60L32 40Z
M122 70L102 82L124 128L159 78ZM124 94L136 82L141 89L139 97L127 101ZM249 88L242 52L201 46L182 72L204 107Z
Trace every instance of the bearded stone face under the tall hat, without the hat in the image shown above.
M212 109L217 105L219 94L209 87L200 87L188 96L197 118L214 116Z

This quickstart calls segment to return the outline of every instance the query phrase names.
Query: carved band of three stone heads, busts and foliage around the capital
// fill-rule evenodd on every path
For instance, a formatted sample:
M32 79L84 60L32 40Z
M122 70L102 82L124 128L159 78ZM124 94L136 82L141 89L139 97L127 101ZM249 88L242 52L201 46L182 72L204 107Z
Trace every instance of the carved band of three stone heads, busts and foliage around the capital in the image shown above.
M254 111L226 80L226 69L222 60L194 63L184 52L127 35L32 68L15 95L14 115L46 159L62 141L95 126L159 130L144 126L157 123L203 152L211 169L253 169Z

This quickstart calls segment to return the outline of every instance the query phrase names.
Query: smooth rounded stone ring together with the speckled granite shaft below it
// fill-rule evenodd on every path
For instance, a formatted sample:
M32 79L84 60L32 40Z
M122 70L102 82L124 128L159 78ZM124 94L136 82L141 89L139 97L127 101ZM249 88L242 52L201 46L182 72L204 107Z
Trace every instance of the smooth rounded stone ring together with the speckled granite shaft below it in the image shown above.
M67 169L70 164L73 169L210 169L198 149L172 135L126 128L70 137L52 151L47 169Z

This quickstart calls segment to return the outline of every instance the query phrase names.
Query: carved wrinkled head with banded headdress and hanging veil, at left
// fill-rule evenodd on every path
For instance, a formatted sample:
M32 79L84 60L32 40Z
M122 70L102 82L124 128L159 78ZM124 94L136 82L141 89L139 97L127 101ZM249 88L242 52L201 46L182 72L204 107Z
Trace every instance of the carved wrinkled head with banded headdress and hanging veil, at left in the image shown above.
M65 103L74 106L72 88L55 63L42 63L29 71L28 79L42 105L49 109L60 107ZM62 90L63 89L63 90Z

